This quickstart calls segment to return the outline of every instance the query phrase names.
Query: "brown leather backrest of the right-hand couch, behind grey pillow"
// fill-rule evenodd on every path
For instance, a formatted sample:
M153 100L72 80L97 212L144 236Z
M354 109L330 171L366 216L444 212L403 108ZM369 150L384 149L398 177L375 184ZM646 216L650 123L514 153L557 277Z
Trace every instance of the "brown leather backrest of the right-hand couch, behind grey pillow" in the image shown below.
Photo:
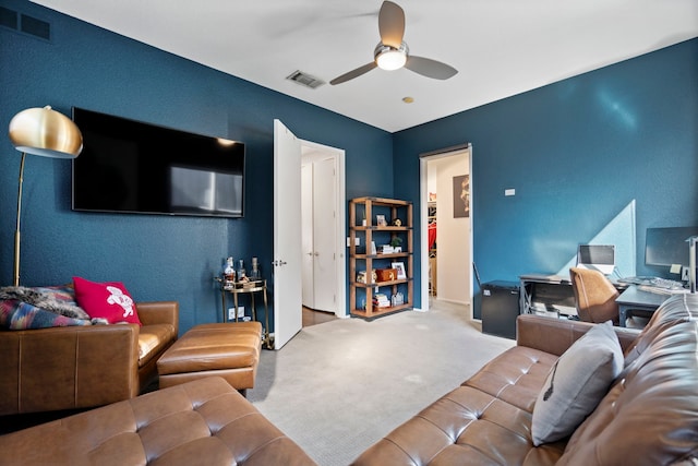
M569 439L561 466L669 465L698 455L698 295L657 311L617 383ZM673 325L669 322L674 319Z

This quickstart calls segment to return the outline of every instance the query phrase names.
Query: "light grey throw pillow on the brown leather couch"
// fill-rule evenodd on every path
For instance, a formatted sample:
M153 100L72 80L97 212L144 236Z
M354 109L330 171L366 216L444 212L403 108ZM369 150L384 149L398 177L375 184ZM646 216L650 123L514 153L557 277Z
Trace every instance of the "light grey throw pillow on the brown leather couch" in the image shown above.
M571 434L623 370L623 350L611 321L594 325L553 366L533 408L533 444Z

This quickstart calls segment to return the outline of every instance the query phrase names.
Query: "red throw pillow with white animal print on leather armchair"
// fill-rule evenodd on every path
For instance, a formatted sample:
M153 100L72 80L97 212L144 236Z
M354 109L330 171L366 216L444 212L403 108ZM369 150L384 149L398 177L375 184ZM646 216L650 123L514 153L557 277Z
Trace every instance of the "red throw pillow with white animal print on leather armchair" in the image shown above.
M135 301L120 282L95 283L73 277L75 299L91 319L105 319L110 324L128 322L141 325Z

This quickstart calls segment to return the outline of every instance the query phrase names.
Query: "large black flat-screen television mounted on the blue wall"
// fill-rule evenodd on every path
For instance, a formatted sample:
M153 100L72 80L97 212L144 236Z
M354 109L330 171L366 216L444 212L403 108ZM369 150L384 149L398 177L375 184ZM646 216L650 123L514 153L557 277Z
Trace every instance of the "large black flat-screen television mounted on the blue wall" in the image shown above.
M240 218L244 144L73 107L72 208Z

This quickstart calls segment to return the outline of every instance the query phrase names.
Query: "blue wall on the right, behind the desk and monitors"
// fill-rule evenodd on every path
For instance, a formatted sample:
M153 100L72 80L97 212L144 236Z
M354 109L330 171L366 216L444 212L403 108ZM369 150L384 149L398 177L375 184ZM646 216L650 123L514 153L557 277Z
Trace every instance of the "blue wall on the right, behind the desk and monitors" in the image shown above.
M419 155L466 142L482 282L559 272L634 201L621 273L670 277L645 231L698 225L698 39L395 133L395 195L419 204Z

